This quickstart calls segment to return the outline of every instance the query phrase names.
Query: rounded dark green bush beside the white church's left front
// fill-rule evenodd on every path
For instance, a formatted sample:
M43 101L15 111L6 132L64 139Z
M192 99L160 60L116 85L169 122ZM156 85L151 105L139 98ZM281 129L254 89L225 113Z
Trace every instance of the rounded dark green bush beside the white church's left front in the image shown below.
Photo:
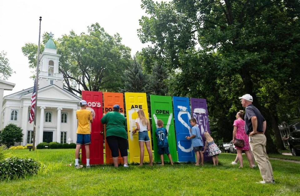
M0 132L0 142L8 148L13 146L15 142L23 141L22 129L15 124L8 124Z

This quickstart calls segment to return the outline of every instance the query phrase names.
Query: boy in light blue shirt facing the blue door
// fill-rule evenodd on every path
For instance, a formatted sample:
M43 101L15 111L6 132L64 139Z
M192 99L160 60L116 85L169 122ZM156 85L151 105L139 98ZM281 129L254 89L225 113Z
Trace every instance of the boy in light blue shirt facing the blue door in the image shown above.
M200 129L197 126L197 121L195 118L191 118L190 120L190 125L192 126L192 129L190 129L190 132L192 132L192 136L186 136L185 138L187 140L192 139L192 145L193 145L193 150L196 153L197 161L195 165L199 165L200 157L201 157L201 165L203 166L203 142L202 142L202 137L200 135Z

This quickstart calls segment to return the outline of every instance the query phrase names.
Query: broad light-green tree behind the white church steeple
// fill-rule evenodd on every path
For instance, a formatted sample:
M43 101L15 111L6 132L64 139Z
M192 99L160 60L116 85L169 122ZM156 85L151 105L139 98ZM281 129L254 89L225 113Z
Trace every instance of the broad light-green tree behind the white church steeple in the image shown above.
M43 43L47 42L44 34ZM88 33L63 35L54 40L60 58L59 71L63 74L64 87L81 94L83 90L117 91L123 87L123 74L130 64L130 48L124 46L119 34L109 35L98 23L88 27ZM44 45L41 45L41 53ZM25 44L23 54L29 66L36 62L37 46Z

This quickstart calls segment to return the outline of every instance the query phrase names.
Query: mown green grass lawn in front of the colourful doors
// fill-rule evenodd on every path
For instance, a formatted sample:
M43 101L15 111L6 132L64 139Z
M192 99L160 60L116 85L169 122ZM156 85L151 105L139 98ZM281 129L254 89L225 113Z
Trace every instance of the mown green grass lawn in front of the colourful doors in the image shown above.
M10 150L17 157L45 164L38 175L0 182L0 195L300 195L300 164L271 160L275 184L257 184L259 169L230 163L235 154L222 153L220 166L193 163L142 168L94 166L75 169L74 149ZM67 165L72 163L72 167Z

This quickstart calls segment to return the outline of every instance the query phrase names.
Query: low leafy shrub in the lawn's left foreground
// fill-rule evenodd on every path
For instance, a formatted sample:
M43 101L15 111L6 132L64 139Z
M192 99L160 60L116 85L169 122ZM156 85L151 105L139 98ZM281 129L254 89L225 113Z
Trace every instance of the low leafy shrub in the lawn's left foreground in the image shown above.
M40 163L32 159L7 158L0 162L0 180L23 178L25 175L32 176L37 174L40 167Z

